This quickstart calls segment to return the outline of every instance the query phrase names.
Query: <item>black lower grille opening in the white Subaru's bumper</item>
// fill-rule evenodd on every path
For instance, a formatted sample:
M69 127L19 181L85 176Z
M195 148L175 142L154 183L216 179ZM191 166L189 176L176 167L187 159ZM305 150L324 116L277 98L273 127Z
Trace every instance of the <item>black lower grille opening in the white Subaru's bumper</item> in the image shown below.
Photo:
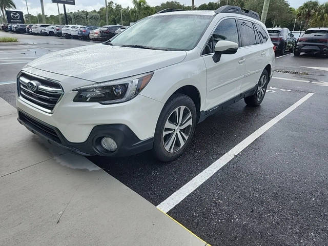
M18 117L20 120L22 120L24 122L24 124L26 124L27 126L32 128L33 130L35 130L35 131L41 133L42 135L46 136L47 138L50 138L50 139L58 142L59 144L61 144L60 138L58 137L55 130L52 129L51 127L47 126L46 124L44 124L41 121L33 119L32 117L30 117L20 111L18 112Z

